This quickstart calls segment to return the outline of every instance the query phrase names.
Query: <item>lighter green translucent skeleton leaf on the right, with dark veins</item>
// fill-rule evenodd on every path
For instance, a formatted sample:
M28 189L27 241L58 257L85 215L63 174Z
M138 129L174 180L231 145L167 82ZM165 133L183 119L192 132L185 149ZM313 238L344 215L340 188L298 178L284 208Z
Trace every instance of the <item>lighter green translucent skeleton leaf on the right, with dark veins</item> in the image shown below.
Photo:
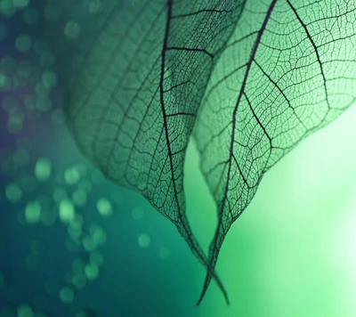
M247 0L194 133L218 209L213 268L264 173L355 102L355 56L355 2ZM207 272L198 303L210 280Z

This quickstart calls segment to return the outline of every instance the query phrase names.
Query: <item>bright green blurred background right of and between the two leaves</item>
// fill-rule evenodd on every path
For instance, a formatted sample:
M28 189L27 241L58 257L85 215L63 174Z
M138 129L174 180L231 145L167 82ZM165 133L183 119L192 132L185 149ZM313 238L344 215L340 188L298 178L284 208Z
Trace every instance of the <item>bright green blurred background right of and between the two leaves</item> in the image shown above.
M356 315L355 120L356 110L348 110L264 176L217 264L231 306L214 285L199 316ZM190 147L187 204L193 231L207 249L215 207L197 165Z

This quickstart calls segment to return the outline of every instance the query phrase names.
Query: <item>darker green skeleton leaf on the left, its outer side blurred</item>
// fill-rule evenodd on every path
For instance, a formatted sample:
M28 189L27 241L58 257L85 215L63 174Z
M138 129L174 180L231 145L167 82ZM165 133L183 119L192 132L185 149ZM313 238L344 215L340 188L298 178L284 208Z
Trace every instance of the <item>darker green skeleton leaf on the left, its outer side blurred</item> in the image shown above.
M210 73L243 4L107 0L93 12L67 2L55 23L65 37L54 37L77 144L110 180L142 193L175 224L227 300L190 230L183 161Z

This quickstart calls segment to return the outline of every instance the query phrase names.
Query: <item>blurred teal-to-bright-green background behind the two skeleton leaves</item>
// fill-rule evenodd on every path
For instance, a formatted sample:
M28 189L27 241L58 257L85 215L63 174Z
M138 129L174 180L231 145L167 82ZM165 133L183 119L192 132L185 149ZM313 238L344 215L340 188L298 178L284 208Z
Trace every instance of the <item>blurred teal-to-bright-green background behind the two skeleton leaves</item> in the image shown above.
M196 307L205 270L174 225L77 150L38 36L56 10L33 3L0 0L0 317L356 315L356 109L264 176L218 261L231 305L212 283ZM185 175L207 250L216 211L192 142Z

